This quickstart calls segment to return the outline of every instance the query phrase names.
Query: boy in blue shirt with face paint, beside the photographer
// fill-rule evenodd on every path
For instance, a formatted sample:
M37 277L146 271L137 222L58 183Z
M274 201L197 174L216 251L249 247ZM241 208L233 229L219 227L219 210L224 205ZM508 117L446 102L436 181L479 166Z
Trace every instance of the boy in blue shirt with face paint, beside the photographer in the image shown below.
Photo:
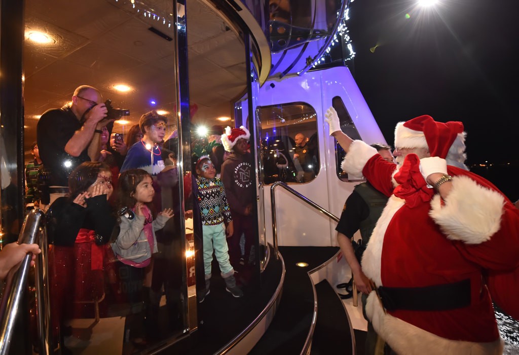
M166 135L166 124L168 119L159 115L156 111L150 111L141 116L139 127L143 138L131 146L121 172L129 169L143 169L148 174L156 176L164 169L164 161L161 158L159 143Z

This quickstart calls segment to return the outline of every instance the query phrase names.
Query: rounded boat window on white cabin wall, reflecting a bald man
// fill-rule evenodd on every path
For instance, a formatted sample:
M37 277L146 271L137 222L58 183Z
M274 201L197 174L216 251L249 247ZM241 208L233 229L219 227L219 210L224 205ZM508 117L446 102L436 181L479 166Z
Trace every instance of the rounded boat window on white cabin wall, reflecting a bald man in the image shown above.
M317 114L307 103L258 107L263 182L307 183L319 173Z

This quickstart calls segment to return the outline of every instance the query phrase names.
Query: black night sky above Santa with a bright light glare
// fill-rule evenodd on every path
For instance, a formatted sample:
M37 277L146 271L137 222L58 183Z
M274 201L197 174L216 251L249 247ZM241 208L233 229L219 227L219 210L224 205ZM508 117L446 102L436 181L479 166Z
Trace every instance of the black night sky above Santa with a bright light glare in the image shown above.
M350 4L348 28L356 52L350 70L380 129L393 144L399 121L425 114L462 121L468 165L510 162L485 177L498 175L503 181L493 182L511 199L519 198L511 186L519 180L519 1L439 0L426 9L416 4ZM501 175L510 174L514 179L504 181Z

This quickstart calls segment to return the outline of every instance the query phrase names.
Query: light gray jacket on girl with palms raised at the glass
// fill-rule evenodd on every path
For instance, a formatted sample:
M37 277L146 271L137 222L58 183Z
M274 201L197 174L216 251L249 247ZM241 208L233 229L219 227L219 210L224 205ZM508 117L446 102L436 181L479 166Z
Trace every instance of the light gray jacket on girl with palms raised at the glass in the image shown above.
M144 233L144 221L144 216L135 215L132 220L125 216L121 217L119 236L117 240L112 243L112 250L116 255L137 264L152 257L152 251L149 249L148 239ZM162 229L167 221L167 217L158 215L152 223L153 253L157 252L155 231Z

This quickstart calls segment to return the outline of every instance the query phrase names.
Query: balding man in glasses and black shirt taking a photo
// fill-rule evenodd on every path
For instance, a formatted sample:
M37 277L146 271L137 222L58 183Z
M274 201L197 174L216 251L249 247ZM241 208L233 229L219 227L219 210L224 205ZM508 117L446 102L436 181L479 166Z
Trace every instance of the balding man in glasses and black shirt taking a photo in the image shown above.
M36 140L40 158L48 172L49 204L69 192L69 175L85 161L97 161L101 129L113 121L98 89L81 85L72 102L46 111L40 117ZM46 202L46 201L45 201Z

